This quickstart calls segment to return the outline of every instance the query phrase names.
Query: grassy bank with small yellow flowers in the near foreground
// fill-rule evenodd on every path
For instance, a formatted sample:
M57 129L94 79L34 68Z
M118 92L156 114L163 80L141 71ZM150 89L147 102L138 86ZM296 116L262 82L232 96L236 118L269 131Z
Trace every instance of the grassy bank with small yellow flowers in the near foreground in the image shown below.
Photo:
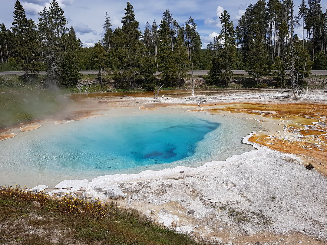
M33 208L32 201L41 207ZM0 225L3 222L8 226L0 230L0 244L23 241L44 245L52 239L59 240L57 244L199 244L116 202L87 202L68 195L52 199L19 186L0 188Z

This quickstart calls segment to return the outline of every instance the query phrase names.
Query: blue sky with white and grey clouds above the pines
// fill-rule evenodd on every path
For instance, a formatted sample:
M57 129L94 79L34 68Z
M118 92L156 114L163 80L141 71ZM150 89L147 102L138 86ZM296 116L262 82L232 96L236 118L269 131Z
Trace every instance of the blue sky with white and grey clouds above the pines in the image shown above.
M15 0L1 0L3 3L0 8L0 23L10 27L13 16L13 6ZM49 6L50 0L25 0L21 4L26 10L28 18L38 21L38 12L44 6ZM103 35L103 23L105 13L111 17L113 27L121 26L121 17L124 16L124 8L127 0L57 0L65 12L65 17L69 21L68 25L73 25L77 36L81 39L84 46L93 46L94 43ZM152 24L156 19L159 25L163 12L169 9L174 19L180 24L185 23L190 16L198 24L198 32L202 40L202 48L206 48L207 43L220 32L220 22L218 16L226 9L231 16L234 26L237 20L244 13L247 4L254 4L256 0L131 0L134 6L136 19L143 30L146 21ZM297 13L298 4L301 0L295 0L295 12ZM321 1L323 11L327 8L327 1ZM296 30L302 33L301 27ZM299 35L300 37L302 36Z

